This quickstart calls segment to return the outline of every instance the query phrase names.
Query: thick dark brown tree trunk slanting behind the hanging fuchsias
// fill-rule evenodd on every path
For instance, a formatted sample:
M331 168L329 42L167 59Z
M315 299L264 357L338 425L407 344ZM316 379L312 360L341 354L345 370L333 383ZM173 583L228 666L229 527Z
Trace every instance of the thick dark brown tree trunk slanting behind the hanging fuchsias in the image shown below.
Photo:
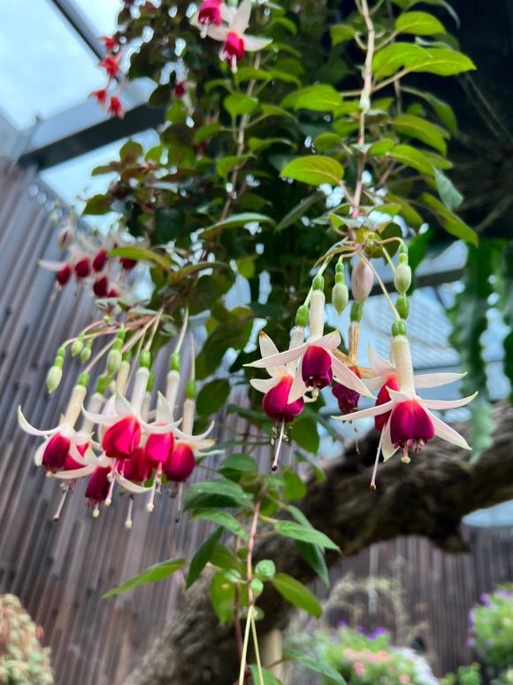
M433 440L405 465L394 457L379 470L378 490L369 491L370 465L377 448L372 432L341 459L326 461L326 479L311 482L301 509L312 525L335 541L342 554L356 554L374 542L398 535L425 535L441 549L463 551L461 518L471 511L513 498L513 409L494 409L494 445L471 466L468 454ZM463 434L468 426L456 426ZM279 571L302 582L314 576L293 541L267 538L256 557L271 558ZM330 552L327 564L339 555ZM238 674L234 627L219 626L208 594L209 578L180 596L169 625L126 685L233 685ZM261 634L287 625L289 605L266 589L258 605L265 612Z

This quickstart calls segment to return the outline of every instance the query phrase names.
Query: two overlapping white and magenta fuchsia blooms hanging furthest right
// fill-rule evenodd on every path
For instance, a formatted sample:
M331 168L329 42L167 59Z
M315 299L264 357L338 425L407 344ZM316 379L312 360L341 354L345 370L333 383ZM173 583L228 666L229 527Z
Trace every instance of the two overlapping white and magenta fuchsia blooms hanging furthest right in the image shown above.
M377 378L365 381L365 383L371 387L379 387L383 384L376 405L345 416L333 416L338 421L354 421L366 416L376 418L386 416L385 421L376 422L376 427L381 430L381 436L376 463L372 472L371 489L376 487L375 477L380 453L386 462L398 449L402 449L402 461L409 463L410 449L418 454L425 443L435 435L460 448L471 449L462 435L441 421L440 418L434 416L430 410L464 407L478 393L473 393L460 400L424 400L419 397L416 388L445 385L462 378L462 375L433 373L415 377L411 363L410 342L404 335L394 337L392 354L394 364L387 362L378 354L370 354L372 368L377 370L379 375Z

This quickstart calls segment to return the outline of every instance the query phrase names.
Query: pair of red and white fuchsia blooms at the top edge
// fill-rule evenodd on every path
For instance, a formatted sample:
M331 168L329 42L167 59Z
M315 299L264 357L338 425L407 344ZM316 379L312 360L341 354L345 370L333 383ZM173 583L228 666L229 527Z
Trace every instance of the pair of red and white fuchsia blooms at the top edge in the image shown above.
M209 36L222 44L219 58L237 71L246 52L263 50L272 43L268 38L247 35L251 16L251 0L242 0L235 11L221 0L203 0L191 23L200 28L202 37Z

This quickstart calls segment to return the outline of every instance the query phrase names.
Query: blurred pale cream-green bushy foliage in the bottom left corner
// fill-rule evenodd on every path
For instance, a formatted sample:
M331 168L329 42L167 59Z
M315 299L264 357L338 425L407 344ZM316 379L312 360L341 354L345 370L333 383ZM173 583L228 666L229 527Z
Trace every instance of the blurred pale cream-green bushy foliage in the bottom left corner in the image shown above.
M50 685L54 679L50 650L41 645L34 624L18 597L0 596L0 682L4 685Z

